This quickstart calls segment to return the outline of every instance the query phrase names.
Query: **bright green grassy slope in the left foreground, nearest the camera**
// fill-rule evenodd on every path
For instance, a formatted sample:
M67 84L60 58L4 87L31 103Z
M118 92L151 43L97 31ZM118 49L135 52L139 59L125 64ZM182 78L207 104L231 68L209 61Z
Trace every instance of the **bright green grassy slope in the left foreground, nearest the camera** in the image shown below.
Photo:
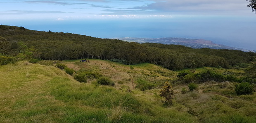
M187 112L147 103L141 91L79 83L53 66L19 62L0 66L0 76L2 123L197 122Z

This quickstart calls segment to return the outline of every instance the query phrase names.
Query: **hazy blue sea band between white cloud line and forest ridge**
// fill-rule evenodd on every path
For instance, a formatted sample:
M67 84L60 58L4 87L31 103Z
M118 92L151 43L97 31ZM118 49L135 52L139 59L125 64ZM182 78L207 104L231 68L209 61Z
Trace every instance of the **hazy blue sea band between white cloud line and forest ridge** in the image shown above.
M234 21L235 20L235 21ZM211 40L226 46L256 50L256 17L172 17L81 20L6 21L3 25L23 26L30 30L69 32L100 38L181 37Z

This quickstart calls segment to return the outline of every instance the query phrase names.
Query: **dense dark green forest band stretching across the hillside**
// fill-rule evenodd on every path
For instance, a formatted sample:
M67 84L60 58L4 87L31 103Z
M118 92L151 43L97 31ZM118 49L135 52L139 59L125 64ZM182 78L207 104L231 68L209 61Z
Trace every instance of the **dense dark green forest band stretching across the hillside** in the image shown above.
M20 42L22 41L22 42ZM180 45L135 43L63 32L39 32L0 25L0 53L20 59L108 59L123 64L148 62L171 70L204 66L229 68L249 63L256 53L192 49ZM26 45L25 45L26 44Z

